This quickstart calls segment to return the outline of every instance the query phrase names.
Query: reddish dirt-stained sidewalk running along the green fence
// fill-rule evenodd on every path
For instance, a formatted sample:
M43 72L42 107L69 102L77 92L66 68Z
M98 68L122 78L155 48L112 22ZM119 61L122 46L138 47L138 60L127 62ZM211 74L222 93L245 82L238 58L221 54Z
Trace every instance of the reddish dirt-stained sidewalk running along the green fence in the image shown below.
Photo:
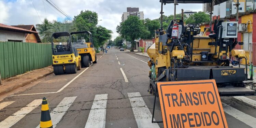
M53 67L48 66L2 80L2 85L0 85L0 95L8 93L18 87L25 86L52 73Z

